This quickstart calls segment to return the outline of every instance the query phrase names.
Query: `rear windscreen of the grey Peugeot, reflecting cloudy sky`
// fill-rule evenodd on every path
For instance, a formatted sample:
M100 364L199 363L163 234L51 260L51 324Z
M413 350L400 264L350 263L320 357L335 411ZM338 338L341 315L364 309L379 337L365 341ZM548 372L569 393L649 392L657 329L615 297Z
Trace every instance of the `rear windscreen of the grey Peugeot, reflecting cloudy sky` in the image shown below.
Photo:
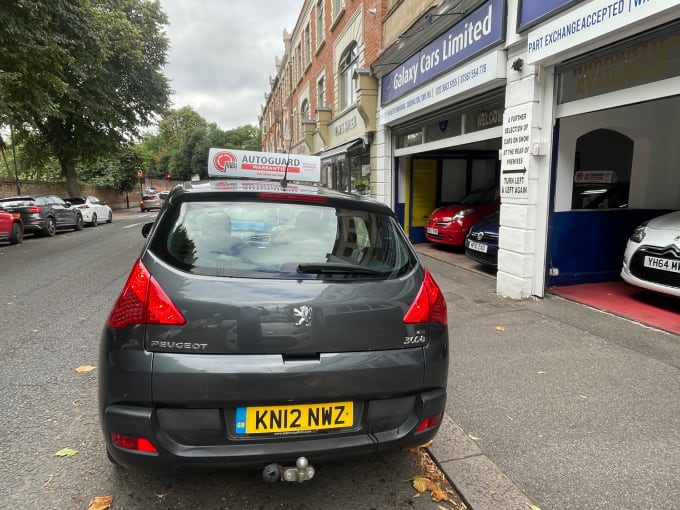
M255 278L396 278L416 259L385 214L302 203L184 202L151 251L193 274Z

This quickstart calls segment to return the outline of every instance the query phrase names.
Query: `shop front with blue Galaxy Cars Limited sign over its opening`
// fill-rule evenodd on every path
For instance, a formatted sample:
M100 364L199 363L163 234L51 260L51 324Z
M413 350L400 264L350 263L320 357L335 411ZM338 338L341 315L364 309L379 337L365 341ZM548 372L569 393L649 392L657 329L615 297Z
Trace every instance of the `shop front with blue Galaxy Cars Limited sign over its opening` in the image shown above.
M401 63L381 79L379 156L391 162L392 205L413 242L426 240L438 206L498 185L505 15L502 0L484 2L415 53L389 54Z

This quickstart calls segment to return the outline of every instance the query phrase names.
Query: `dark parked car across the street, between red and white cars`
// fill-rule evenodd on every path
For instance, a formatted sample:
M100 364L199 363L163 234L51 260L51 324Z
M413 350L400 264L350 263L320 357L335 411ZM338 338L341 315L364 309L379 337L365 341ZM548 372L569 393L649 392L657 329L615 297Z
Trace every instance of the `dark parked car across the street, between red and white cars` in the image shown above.
M24 195L0 198L0 205L21 214L24 232L53 236L60 229L83 229L83 215L56 195Z

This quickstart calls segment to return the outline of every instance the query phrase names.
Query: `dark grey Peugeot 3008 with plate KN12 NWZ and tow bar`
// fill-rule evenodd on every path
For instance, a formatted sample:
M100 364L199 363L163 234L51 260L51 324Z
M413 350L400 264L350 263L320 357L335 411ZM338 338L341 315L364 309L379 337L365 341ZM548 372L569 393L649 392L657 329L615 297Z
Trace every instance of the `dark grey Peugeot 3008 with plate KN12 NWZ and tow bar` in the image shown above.
M114 463L303 481L435 436L446 303L389 207L212 181L175 187L144 233L101 340Z

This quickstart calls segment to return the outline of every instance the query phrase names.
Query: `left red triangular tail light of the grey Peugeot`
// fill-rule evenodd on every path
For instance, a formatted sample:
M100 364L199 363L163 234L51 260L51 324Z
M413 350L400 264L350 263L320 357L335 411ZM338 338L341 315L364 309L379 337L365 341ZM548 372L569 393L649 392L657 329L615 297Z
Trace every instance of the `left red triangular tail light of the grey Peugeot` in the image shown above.
M186 323L170 297L138 260L106 323L112 328L132 324L181 326Z

